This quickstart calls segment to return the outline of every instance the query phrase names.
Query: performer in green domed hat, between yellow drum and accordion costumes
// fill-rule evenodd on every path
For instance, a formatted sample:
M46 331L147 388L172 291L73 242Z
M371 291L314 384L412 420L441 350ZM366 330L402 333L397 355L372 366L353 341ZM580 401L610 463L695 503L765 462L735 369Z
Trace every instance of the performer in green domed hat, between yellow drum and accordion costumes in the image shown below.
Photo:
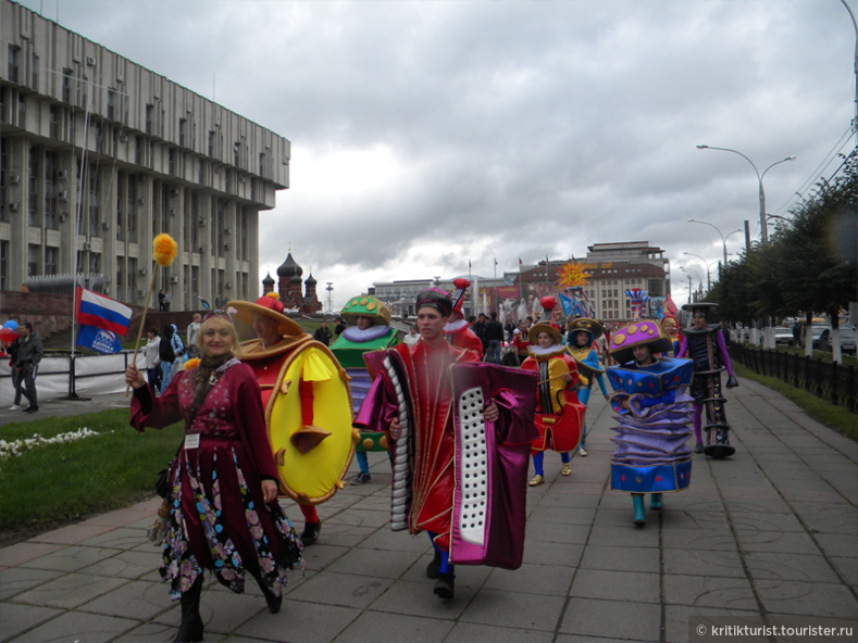
M331 346L331 352L351 378L351 403L357 414L372 386L363 363L363 353L395 345L398 343L397 332L395 328L390 328L390 308L374 297L351 298L340 315L348 323L348 328ZM420 338L419 335L414 337ZM355 450L360 472L349 480L351 484L365 484L372 480L366 451L387 451L387 440L383 438L382 432L361 436Z

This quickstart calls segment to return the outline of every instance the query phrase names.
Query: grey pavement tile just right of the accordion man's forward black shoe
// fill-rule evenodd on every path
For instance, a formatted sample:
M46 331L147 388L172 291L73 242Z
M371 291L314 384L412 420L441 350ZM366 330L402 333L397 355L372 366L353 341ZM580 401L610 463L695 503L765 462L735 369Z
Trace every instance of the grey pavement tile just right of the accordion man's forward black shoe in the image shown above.
M459 622L477 622L523 630L554 631L565 598L482 589L465 607Z

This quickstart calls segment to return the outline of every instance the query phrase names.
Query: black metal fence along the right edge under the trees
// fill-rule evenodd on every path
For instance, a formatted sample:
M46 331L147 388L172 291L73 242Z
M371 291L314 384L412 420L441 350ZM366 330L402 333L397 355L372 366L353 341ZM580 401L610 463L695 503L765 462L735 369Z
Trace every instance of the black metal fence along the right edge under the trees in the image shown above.
M797 353L750 349L734 342L730 343L730 358L755 373L776 377L835 404L843 404L853 413L858 412L858 379L855 366L823 362L819 357Z

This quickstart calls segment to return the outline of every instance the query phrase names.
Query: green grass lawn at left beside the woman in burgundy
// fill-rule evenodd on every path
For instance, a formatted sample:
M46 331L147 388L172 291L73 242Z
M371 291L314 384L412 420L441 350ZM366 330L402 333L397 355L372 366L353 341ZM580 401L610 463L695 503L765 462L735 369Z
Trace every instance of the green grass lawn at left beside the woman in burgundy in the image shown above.
M98 436L0 459L0 545L152 497L158 471L182 441L176 424L138 433L126 409L5 425L0 440L52 438L88 428Z

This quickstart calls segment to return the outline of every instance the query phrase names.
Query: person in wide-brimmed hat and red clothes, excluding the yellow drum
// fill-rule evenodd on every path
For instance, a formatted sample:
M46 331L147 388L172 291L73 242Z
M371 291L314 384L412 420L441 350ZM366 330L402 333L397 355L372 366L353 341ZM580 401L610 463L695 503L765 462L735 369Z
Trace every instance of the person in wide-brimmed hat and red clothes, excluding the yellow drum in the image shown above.
M268 408L269 399L284 362L294 351L314 343L313 338L307 335L300 325L283 314L283 302L279 301L276 292L260 297L254 304L229 302L227 306L234 304L236 306L241 304L237 317L252 324L257 335L257 339L241 343L241 361L253 369L262 391L262 408ZM309 546L319 540L322 522L314 506L300 503L298 506L304 519L301 542L304 546Z

